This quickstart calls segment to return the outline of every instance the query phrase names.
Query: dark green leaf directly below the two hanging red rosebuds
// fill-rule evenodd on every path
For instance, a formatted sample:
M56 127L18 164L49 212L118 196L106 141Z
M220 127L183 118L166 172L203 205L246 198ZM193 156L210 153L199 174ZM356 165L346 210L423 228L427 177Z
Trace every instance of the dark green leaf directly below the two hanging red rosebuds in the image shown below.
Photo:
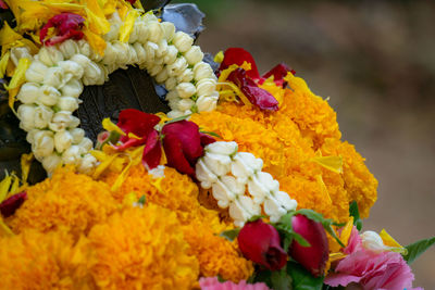
M287 263L287 273L293 280L294 290L320 290L323 286L324 277L315 278L301 265L295 262Z

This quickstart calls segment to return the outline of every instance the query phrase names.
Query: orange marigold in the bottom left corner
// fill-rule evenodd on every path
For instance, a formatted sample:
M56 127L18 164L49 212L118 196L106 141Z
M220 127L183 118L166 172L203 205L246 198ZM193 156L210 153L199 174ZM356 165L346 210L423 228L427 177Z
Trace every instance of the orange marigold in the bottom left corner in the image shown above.
M1 289L85 289L89 281L83 243L66 231L26 229L0 238Z

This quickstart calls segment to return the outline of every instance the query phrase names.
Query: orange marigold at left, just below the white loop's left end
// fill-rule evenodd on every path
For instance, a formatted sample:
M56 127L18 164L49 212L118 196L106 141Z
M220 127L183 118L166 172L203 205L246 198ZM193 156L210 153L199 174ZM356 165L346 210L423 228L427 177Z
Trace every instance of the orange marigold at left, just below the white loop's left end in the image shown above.
M15 232L25 228L42 232L66 228L77 238L119 207L107 184L76 174L73 167L59 168L51 178L29 187L27 197L7 219Z

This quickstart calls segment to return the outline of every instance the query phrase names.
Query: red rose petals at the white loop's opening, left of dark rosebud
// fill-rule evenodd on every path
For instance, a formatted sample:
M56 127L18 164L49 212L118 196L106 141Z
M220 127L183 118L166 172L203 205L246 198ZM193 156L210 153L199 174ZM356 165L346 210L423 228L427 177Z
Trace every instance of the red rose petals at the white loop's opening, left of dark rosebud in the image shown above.
M119 150L125 150L130 147L145 144L150 135L154 130L154 126L159 124L160 117L144 113L139 110L127 109L120 113L117 126L126 134L121 137L122 146L116 147ZM128 134L133 133L137 138L129 138Z

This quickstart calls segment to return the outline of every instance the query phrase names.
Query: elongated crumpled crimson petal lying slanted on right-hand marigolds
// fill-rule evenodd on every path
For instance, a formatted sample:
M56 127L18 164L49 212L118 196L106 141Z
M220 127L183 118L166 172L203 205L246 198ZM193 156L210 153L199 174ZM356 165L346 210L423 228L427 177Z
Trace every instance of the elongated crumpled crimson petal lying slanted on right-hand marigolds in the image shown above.
M229 74L228 80L240 88L248 100L261 110L277 111L278 101L266 90L259 88L252 78L248 78L244 68L237 68Z

